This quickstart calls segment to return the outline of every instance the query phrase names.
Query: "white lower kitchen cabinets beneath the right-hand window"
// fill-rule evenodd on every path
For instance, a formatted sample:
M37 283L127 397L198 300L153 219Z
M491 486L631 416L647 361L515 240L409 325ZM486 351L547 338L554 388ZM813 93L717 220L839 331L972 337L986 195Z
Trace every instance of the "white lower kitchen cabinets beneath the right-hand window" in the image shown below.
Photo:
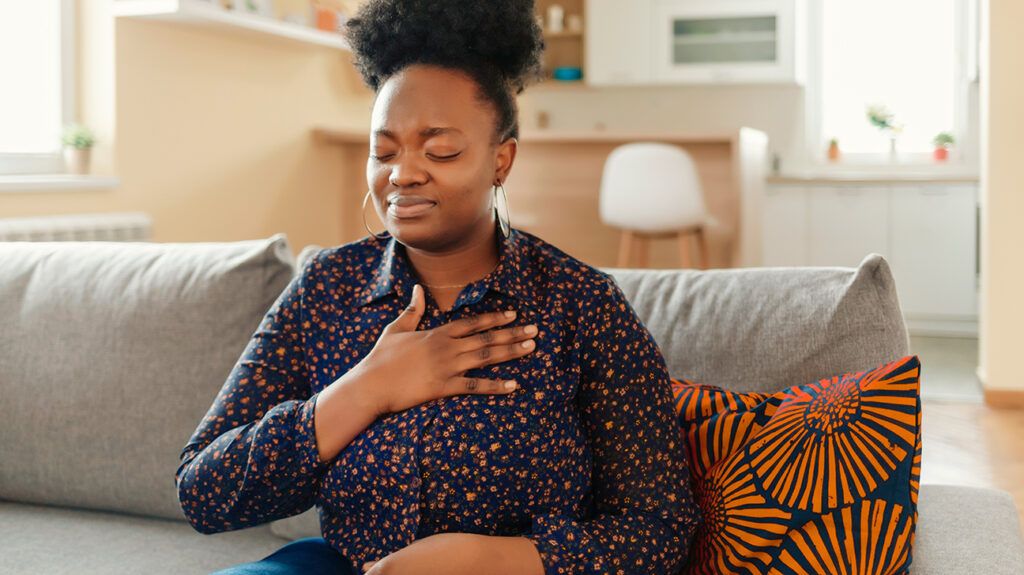
M769 185L762 265L855 267L881 254L914 334L973 335L977 186Z

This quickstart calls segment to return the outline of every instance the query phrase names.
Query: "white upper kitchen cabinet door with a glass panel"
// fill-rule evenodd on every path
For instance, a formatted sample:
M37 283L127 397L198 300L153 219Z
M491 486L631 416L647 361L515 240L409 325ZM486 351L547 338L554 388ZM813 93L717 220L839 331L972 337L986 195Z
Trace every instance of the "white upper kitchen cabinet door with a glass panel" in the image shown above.
M655 0L653 75L669 83L799 82L797 0Z

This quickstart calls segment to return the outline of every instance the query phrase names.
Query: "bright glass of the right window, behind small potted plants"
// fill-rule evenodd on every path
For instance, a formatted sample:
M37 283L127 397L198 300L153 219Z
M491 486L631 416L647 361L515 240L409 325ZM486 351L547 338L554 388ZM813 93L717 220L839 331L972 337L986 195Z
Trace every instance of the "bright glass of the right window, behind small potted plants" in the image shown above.
M857 0L819 3L818 68L808 113L812 157L831 138L844 163L929 163L933 138L967 135L973 0ZM971 33L971 34L969 34ZM867 108L893 115L895 134L872 126Z

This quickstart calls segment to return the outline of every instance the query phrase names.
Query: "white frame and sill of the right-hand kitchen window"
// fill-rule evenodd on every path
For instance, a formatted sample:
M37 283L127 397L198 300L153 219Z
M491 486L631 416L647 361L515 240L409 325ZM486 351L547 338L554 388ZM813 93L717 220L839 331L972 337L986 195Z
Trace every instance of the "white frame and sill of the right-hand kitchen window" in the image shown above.
M822 2L808 4L808 54L807 84L805 86L804 148L802 163L815 172L970 172L978 169L977 129L972 126L971 91L978 85L978 9L979 0L957 0L955 53L962 54L956 62L953 96L953 136L956 146L950 150L949 160L936 164L931 152L899 151L893 162L888 152L843 152L839 162L829 162L825 154L825 134L822 129L822 58L821 27ZM898 144L897 144L898 145ZM897 148L898 149L898 148Z

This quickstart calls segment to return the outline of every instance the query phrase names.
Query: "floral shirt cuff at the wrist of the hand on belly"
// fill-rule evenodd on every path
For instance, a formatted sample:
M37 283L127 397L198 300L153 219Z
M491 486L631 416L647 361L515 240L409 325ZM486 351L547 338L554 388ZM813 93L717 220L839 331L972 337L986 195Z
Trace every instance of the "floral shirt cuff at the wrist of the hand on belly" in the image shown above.
M600 575L605 573L604 558L583 526L572 517L544 514L534 518L529 533L541 554L544 575Z

